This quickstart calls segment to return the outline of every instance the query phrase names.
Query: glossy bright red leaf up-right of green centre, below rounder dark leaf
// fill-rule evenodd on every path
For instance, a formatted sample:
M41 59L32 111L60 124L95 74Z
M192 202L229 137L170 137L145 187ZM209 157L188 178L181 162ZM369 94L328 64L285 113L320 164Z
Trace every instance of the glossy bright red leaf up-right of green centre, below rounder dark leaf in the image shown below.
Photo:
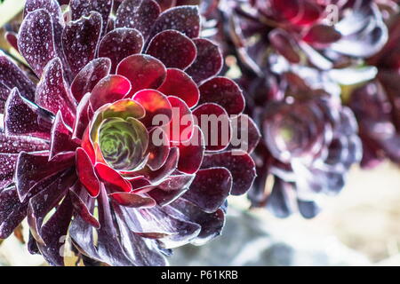
M200 98L196 83L180 69L167 69L164 83L158 88L167 96L183 99L188 107L196 106Z

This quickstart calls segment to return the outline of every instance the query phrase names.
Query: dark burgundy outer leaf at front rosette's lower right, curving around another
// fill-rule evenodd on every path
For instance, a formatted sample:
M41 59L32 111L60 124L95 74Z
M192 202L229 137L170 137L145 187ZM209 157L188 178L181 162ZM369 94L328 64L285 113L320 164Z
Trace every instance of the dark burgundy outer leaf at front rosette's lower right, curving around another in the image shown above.
M206 154L202 168L224 167L233 177L232 194L241 195L248 191L256 177L255 164L252 157L240 150L217 154Z

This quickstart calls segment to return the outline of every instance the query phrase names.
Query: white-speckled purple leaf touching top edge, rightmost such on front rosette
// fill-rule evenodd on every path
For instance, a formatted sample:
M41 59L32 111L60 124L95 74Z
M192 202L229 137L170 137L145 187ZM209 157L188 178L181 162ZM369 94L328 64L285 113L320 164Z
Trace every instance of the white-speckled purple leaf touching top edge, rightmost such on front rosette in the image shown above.
M160 12L153 0L125 0L116 12L116 28L136 28L147 40Z

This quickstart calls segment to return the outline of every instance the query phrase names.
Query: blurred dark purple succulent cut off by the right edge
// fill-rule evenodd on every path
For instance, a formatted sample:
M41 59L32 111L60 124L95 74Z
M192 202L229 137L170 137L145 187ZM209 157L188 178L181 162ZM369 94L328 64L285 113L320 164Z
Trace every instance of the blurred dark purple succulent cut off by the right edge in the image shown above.
M388 43L367 60L378 68L377 78L357 88L349 99L360 126L364 167L385 158L400 164L400 16L390 20Z

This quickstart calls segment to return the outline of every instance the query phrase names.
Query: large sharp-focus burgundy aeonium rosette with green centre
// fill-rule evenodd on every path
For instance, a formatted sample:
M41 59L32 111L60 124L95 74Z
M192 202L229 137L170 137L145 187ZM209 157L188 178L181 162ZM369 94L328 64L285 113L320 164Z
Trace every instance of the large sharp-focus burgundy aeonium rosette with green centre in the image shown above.
M70 239L84 264L164 265L218 236L255 177L259 132L196 6L112 4L28 0L14 46L31 74L0 57L0 237L27 217L50 264Z

